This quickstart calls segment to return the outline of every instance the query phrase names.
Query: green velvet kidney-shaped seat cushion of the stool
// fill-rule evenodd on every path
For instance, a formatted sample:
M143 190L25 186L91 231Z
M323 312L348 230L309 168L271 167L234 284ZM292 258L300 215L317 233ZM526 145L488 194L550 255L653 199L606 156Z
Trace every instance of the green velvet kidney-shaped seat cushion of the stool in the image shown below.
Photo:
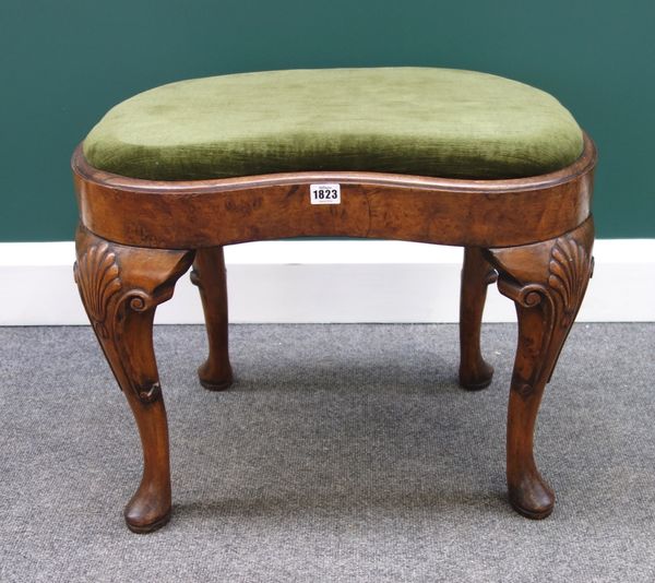
M191 180L296 170L512 178L574 162L557 99L496 75L429 68L289 70L195 79L114 107L92 166Z

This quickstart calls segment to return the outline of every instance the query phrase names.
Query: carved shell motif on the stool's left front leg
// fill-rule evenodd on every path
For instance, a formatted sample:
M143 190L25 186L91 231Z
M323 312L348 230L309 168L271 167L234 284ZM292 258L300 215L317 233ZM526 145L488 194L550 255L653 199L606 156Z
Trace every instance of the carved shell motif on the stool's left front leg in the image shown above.
M105 242L88 248L74 267L82 301L97 333L107 337L107 306L122 283L116 254Z

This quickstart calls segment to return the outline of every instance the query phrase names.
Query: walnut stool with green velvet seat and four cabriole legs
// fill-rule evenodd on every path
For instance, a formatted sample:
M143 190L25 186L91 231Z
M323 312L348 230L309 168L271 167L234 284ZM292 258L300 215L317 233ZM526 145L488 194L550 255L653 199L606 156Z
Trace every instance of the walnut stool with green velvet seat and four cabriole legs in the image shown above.
M75 279L143 444L128 526L152 531L171 508L156 307L193 265L210 345L200 381L226 389L223 246L302 236L463 246L466 389L491 381L479 333L487 285L498 278L519 317L509 498L525 516L547 516L555 496L535 465L533 432L592 273L595 159L553 97L468 71L226 75L157 87L111 109L73 156Z

